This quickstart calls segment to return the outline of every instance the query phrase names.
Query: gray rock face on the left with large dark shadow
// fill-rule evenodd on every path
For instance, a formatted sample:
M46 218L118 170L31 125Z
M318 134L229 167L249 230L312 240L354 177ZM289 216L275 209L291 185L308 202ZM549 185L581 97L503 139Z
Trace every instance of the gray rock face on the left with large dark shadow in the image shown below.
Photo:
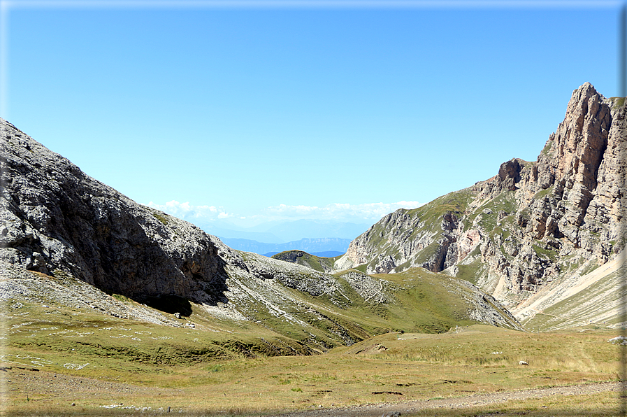
M219 299L224 260L198 227L140 206L0 120L0 258L136 299Z

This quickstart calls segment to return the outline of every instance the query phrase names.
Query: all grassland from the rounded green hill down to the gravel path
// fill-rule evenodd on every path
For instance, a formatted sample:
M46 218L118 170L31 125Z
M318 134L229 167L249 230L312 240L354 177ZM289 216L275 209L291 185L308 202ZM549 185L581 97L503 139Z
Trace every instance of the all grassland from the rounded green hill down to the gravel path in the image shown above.
M617 379L613 332L477 325L473 315L486 311L504 325L516 323L477 304L476 297L486 305L489 298L470 285L424 269L343 271L332 281L336 288L321 295L266 283L282 304L264 298L264 280L247 278L238 288L256 295L257 304L188 303L183 315L71 277L20 274L1 281L10 295L0 356L0 375L10 381L8 415L167 407L259 415ZM354 342L342 343L348 338Z

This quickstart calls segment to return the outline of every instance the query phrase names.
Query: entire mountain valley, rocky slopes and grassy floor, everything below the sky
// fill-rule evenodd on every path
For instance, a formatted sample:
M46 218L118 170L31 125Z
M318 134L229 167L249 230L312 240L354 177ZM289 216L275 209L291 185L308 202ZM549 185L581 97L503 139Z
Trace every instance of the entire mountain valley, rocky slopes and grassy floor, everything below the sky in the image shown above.
M538 160L334 257L233 249L0 120L0 411L618 415L625 113L585 83Z

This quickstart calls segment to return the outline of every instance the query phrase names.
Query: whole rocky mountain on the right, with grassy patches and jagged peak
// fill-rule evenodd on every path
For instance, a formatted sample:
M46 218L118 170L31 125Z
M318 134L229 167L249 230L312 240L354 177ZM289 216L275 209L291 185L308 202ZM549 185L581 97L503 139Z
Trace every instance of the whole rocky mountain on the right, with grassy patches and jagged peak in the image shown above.
M625 246L624 103L585 83L538 160L515 158L487 181L387 215L336 264L446 270L516 304L607 262Z

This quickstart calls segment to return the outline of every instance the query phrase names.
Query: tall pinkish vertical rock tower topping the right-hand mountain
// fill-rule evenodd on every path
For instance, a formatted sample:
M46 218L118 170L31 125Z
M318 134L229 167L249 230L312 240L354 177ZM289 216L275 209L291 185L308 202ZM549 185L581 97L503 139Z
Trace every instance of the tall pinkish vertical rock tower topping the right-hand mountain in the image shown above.
M549 136L522 199L530 206L527 226L535 239L564 237L575 248L584 246L607 261L607 244L619 238L624 119L625 107L614 106L589 83L573 92L565 119ZM542 191L545 195L533 201L531 192ZM587 232L602 228L605 239L594 239L592 244ZM605 248L598 246L604 243Z

